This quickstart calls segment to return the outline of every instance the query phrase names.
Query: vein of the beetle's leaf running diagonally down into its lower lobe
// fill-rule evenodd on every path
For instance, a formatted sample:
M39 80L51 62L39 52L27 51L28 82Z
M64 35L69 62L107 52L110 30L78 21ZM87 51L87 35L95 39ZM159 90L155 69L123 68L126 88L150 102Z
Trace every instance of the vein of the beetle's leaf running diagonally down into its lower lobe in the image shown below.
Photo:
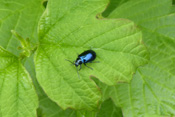
M40 46L40 48L42 48L42 47ZM45 56L47 57L47 59L49 60L49 62L50 62L51 65L53 66L53 68L57 71L57 74L59 74L59 76L63 76L63 75L61 74L62 72L60 72L59 69L56 68L56 66L54 65L54 63L52 63L52 61L49 59L49 56L47 55L47 53L46 53L43 49L42 49L42 51L45 53ZM82 102L83 102L87 107L91 108L91 107L82 99L82 97L80 97L80 95L76 92L76 90L74 90L73 87L64 79L64 77L62 77L61 79L64 80L64 82L65 82L66 84L68 84L68 86L72 89L72 91L74 91L74 93L79 97L80 100L82 100ZM83 80L83 81L84 81L84 80ZM89 89L91 89L91 88L89 88ZM93 92L93 91L92 91L92 92ZM52 94L52 95L53 95L53 94Z

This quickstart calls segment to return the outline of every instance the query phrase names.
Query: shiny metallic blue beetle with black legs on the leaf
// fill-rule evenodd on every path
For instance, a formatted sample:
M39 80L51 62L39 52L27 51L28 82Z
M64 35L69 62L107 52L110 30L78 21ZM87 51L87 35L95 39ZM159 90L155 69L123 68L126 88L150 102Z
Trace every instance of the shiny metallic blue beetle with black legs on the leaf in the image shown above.
M96 58L96 53L93 50L86 50L83 53L81 53L80 55L78 55L78 58L76 59L76 61L74 61L74 62L71 62L70 60L67 60L67 61L69 61L70 63L72 63L73 65L76 66L77 74L79 77L78 66L80 65L80 69L81 69L81 64L84 64L86 67L93 70L91 67L87 66L86 63L92 63L92 61L95 60L95 58ZM96 61L96 63L97 62L98 61Z

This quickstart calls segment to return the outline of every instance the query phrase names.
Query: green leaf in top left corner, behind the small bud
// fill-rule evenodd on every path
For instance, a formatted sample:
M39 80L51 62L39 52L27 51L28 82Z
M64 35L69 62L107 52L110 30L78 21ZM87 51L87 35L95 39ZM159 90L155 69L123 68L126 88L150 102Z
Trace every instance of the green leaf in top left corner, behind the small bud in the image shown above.
M0 0L0 45L15 55L19 41L11 33L18 32L31 42L38 40L37 25L43 12L42 0Z

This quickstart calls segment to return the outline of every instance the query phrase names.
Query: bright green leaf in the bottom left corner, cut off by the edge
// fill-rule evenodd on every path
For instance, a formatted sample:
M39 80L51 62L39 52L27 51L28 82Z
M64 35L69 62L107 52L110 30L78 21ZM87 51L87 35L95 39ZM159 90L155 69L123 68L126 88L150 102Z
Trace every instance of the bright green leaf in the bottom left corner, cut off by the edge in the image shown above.
M15 56L1 47L0 61L0 116L36 116L38 101L29 74Z

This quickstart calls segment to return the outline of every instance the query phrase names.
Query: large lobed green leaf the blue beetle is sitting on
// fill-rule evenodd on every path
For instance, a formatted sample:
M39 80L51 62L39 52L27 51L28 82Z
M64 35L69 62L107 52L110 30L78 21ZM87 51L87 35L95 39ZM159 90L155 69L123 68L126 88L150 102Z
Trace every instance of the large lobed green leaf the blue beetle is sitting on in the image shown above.
M107 0L49 0L39 24L40 46L35 56L37 79L46 94L63 109L94 109L100 99L93 75L108 85L130 82L136 68L147 62L141 32L124 19L98 20ZM65 7L66 6L66 7ZM93 49L96 61L83 66L78 78L77 53Z

